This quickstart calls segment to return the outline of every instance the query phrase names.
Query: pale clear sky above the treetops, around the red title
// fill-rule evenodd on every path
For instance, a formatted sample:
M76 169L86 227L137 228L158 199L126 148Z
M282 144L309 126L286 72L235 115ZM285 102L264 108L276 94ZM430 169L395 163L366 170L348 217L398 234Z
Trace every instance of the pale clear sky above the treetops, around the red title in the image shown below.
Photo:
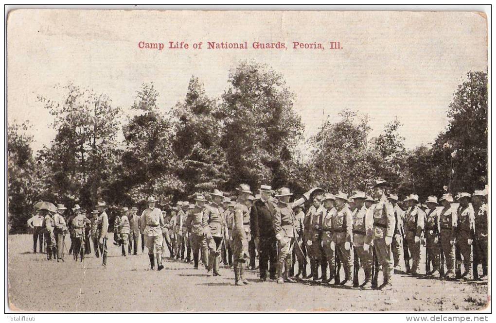
M126 111L140 84L153 81L166 110L184 100L192 75L217 97L229 69L251 58L283 74L306 136L323 115L350 108L370 114L372 135L397 116L413 148L445 128L466 73L487 71L486 20L475 12L15 10L7 28L8 122L31 121L35 150L55 136L36 98L60 100L56 84L106 93ZM140 41L190 48L139 49ZM248 50L208 50L208 41L246 41ZM255 41L288 49L255 50ZM294 41L326 49L293 50ZM328 50L331 41L343 49Z

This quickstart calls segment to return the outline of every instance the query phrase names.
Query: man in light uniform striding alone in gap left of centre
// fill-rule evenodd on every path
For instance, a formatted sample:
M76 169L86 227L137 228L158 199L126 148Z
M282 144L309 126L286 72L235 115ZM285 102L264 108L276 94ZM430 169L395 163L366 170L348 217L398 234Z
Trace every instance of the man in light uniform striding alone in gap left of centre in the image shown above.
M155 259L157 261L157 270L164 269L162 266L162 226L164 218L162 211L155 208L157 200L150 196L147 200L148 208L141 214L141 220L145 227L143 234L145 235L145 245L148 249L148 258L150 259L150 269L154 269Z

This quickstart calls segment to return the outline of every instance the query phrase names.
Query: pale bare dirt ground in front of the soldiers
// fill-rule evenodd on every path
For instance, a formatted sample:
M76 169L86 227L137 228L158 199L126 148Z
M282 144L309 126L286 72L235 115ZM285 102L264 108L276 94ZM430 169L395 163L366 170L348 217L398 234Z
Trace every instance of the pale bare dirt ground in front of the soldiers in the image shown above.
M70 242L66 241L67 247ZM140 249L141 251L141 249ZM31 235L8 236L8 296L11 310L64 312L245 312L245 311L465 311L487 306L488 281L453 282L395 274L392 291L259 282L234 285L234 272L206 277L206 270L167 260L149 270L148 256L122 257L109 244L107 268L90 255L83 264L32 253ZM363 272L361 270L361 279ZM381 281L379 276L379 283Z

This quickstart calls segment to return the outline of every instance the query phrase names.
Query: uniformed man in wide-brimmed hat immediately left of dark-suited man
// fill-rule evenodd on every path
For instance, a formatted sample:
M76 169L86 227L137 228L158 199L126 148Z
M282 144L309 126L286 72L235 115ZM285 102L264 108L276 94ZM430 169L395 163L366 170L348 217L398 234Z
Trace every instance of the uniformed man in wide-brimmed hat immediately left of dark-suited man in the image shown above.
M245 263L248 259L248 235L249 230L249 213L247 207L248 196L251 190L248 184L240 184L238 190L238 203L234 207L233 215L233 231L231 247L233 251L234 261L234 276L235 284L243 286L248 285L248 280L245 279ZM247 224L245 224L247 223Z

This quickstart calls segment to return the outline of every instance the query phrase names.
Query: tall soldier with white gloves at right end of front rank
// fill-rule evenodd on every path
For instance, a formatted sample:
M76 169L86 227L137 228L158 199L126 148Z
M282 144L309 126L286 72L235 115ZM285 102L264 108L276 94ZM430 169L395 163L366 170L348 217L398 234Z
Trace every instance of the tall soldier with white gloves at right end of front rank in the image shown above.
M391 261L391 243L394 235L394 209L391 203L387 201L385 196L385 188L389 184L383 180L378 179L372 186L373 197L377 203L371 206L373 212L373 246L377 261L382 266L382 273L384 282L376 287L382 290L392 288L391 278L393 275L393 263ZM370 246L364 243L364 250L368 250ZM375 287L375 286L374 286Z

